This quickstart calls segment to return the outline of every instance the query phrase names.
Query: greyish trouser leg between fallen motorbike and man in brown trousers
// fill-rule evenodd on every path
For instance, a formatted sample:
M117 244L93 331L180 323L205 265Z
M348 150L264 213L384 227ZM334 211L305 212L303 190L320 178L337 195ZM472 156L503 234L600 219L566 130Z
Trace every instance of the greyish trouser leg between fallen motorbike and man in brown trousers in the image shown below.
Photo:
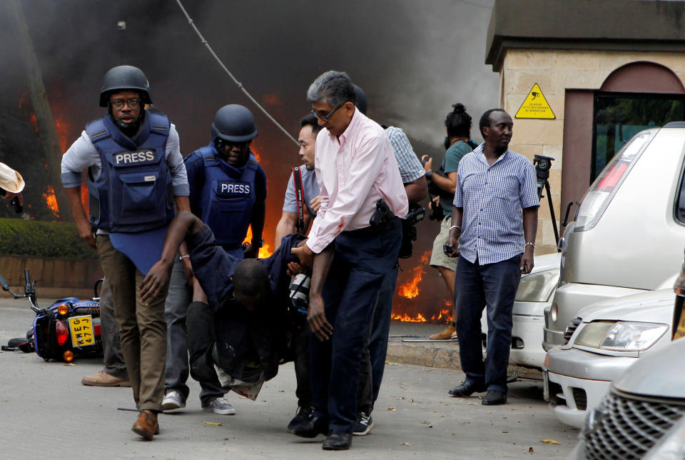
M121 354L121 339L119 339L119 325L116 324L114 316L114 302L112 301L112 291L109 283L105 280L100 291L100 329L103 348L102 369L111 376L119 379L128 380L126 363Z

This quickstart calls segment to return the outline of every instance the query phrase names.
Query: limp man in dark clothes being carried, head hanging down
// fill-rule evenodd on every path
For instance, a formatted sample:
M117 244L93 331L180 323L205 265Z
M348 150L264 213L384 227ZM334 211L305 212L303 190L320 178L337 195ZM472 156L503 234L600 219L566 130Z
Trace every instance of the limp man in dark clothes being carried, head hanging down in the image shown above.
M288 235L268 259L239 261L215 243L208 226L189 212L171 222L161 259L143 280L143 301L168 281L181 241L186 241L196 285L188 308L191 376L200 380L218 368L225 389L255 399L264 381L290 360L286 346L290 248L304 236Z

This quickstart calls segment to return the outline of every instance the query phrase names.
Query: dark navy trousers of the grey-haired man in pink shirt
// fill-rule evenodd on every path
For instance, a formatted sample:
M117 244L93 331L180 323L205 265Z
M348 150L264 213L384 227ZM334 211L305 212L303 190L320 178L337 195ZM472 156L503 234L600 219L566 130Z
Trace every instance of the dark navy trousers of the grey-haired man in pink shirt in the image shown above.
M396 225L395 225L396 224ZM332 430L352 432L357 419L357 386L362 350L383 279L400 250L399 221L385 231L343 231L323 289L326 318L333 336L310 336L312 400L315 415Z

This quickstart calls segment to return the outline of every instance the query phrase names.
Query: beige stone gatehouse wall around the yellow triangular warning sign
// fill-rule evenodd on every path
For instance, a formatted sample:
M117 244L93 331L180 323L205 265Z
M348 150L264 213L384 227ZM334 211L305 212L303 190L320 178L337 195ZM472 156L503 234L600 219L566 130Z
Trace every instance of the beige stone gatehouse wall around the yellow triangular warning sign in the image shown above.
M549 185L560 232L561 212L565 211L561 194L566 89L599 89L612 71L636 61L666 66L685 81L685 56L677 53L507 49L500 72L499 100L504 110L513 118L533 84L537 83L557 116L554 120L514 119L514 136L509 147L531 160L534 155L556 159L549 174ZM547 254L555 250L552 219L545 197L539 212L535 252Z

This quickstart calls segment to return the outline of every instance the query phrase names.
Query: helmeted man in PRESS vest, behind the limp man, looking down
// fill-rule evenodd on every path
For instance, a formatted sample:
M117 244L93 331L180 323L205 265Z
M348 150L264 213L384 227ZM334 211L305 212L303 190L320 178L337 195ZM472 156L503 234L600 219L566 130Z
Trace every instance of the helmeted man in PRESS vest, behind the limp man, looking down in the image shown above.
M263 244L266 175L250 144L257 136L255 118L244 106L221 107L210 130L210 144L186 157L191 211L212 230L217 244L235 259L255 258ZM251 244L243 251L248 226ZM188 380L188 334L186 314L193 300L192 270L185 244L174 262L164 316L168 326L166 394L163 409L186 406ZM201 289L198 285L194 289ZM233 415L235 409L223 399L217 376L204 375L200 400L205 411Z

